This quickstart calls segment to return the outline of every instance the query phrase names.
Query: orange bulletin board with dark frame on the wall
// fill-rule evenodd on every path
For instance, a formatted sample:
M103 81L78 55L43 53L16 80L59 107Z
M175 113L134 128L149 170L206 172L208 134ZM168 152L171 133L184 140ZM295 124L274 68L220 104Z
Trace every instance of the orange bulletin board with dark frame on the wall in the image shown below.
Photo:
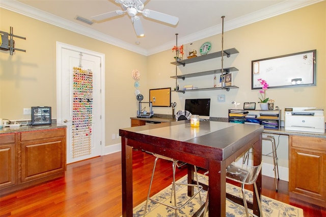
M171 106L171 88L150 89L149 101L152 102L152 106Z

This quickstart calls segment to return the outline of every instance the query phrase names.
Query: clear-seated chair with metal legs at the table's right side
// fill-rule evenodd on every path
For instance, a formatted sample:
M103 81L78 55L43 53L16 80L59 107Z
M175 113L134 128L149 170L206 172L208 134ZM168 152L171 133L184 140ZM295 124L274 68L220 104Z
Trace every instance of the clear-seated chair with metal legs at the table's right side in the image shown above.
M258 166L248 166L248 165L244 165L244 164L242 164L241 166L236 166L234 163L232 163L226 169L226 178L227 179L241 183L242 200L243 200L244 207L240 206L237 203L234 203L232 200L230 200L228 198L227 198L227 200L230 201L231 203L235 204L236 206L240 207L241 209L244 209L246 211L247 217L249 217L249 213L252 214L253 216L256 216L256 215L249 212L249 209L248 209L246 195L244 194L244 185L246 185L246 184L254 184L254 191L256 193L256 198L257 198L257 202L258 202L260 215L263 216L260 198L258 195L258 189L257 189L257 185L256 185L256 180L260 173L261 167L262 167L262 163ZM207 198L206 198L206 202L205 202L204 213L207 212L207 207L208 207L208 192L207 192ZM201 214L200 214L200 216L201 216Z

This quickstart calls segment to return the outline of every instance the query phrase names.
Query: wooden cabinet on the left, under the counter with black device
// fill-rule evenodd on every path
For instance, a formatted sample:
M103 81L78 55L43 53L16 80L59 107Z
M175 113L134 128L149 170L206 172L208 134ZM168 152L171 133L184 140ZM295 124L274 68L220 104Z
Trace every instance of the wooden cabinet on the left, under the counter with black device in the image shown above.
M66 128L0 134L0 195L63 177Z

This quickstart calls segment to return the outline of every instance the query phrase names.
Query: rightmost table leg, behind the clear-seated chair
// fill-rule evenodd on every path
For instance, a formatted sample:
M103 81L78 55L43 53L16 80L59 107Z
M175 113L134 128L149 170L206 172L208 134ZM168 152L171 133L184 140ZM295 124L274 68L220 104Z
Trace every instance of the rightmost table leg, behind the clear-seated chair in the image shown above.
M257 165L261 164L261 160L262 160L261 149L262 148L261 148L261 134L260 134L259 140L254 144L254 166L257 166ZM258 194L259 194L259 198L260 198L260 193L261 193L261 170L260 170L260 173L259 173L258 178L256 180L256 184L257 184ZM253 212L257 216L260 216L260 211L259 211L255 191L253 191Z

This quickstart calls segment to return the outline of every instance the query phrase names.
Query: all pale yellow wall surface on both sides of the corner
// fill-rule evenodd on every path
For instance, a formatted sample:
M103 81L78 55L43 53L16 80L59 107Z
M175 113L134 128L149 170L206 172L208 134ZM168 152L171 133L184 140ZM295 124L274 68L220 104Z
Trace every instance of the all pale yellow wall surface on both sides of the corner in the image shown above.
M228 108L233 106L231 101L241 105L243 102L258 102L259 91L251 90L252 60L312 49L317 49L317 86L268 89L267 97L274 99L282 110L287 106L315 106L325 110L325 14L326 2L321 2L225 32L224 49L235 47L239 53L225 58L224 67L239 69L233 76L234 85L239 89L172 93L172 101L177 102L176 110L184 107L185 98L209 97L212 99L210 116L227 117ZM56 41L105 54L106 145L119 143L119 140L111 139L111 134L130 126L129 117L136 114L137 100L131 78L133 69L142 73L140 90L145 100L148 99L148 89L175 87L175 80L170 78L175 75L175 66L170 64L174 57L171 49L144 57L0 8L0 30L9 32L10 26L13 26L15 35L27 38L26 41L15 40L16 47L27 52L16 51L10 56L7 51L0 51L1 118L29 119L29 116L22 115L23 108L35 105L52 106L52 116L56 118ZM211 52L221 50L221 34L196 41L192 47L185 45L185 48L199 51L205 41L212 42ZM218 68L221 68L221 59L179 66L177 70L178 74L186 74ZM195 82L213 85L212 76L208 76L180 81L180 86ZM226 102L218 102L218 94L225 94ZM172 109L155 107L154 112L172 114Z

